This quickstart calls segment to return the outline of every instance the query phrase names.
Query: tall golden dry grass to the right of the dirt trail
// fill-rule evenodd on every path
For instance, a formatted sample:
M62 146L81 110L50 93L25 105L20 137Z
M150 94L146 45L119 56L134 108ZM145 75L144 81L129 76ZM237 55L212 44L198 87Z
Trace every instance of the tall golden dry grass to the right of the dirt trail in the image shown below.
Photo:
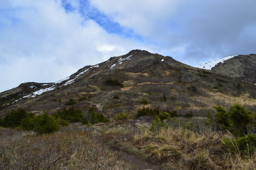
M149 125L149 124L148 124ZM198 131L180 127L149 131L148 125L111 128L105 136L112 141L140 148L153 164L167 169L255 169L256 154L242 158L232 155L222 142L228 133L208 127ZM147 126L147 127L145 127Z

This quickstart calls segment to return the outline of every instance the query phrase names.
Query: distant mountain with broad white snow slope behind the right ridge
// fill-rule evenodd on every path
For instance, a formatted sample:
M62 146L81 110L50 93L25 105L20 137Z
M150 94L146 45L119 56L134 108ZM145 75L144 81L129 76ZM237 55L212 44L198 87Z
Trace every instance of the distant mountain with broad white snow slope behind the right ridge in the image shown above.
M212 70L215 73L256 83L256 54L227 56L205 63L199 68Z

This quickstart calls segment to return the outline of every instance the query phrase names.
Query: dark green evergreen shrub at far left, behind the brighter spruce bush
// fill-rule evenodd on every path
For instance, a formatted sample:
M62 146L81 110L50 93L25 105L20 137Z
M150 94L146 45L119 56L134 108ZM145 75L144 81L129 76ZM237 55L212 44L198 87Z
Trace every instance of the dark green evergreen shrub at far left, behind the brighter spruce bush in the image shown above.
M18 108L8 111L2 121L2 124L6 128L15 128L20 125L22 119L27 117L25 109Z

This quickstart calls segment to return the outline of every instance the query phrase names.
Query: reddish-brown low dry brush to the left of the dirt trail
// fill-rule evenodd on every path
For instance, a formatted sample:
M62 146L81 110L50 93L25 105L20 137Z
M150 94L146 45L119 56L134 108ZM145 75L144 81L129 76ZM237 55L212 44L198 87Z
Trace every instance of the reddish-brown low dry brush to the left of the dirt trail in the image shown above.
M0 169L130 169L79 124L50 135L16 129L0 131Z

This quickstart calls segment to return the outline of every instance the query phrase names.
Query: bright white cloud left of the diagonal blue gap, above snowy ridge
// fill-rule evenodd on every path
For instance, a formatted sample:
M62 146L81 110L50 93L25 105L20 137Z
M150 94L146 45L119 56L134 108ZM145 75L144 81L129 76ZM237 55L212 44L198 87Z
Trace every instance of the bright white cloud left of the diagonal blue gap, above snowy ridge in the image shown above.
M78 10L67 12L61 1L4 3L0 15L0 72L5 83L0 91L27 81L55 82L86 65L143 46L109 34Z

